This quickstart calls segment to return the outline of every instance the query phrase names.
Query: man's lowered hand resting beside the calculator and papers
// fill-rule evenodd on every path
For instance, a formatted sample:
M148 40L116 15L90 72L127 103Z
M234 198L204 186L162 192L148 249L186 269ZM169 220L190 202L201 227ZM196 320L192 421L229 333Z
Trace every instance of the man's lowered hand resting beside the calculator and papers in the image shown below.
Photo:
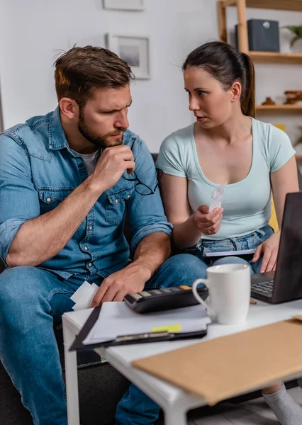
M116 271L103 280L94 295L91 307L96 307L106 301L123 301L125 295L141 292L150 277L150 271L141 263L133 261L123 270Z

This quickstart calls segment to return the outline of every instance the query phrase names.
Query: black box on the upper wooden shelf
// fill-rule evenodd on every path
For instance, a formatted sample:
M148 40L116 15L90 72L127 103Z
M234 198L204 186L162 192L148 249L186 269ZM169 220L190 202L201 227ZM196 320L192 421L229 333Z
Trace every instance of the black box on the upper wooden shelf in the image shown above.
M250 19L247 21L247 35L250 51L280 52L278 21ZM238 48L237 25L235 26L235 40Z

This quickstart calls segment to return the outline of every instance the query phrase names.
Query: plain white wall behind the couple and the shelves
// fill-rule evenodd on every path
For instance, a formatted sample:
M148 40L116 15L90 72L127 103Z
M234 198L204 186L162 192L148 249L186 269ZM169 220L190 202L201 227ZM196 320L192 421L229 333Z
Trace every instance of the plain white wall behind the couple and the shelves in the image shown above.
M147 0L146 11L107 11L101 0L1 0L0 77L4 127L43 115L57 101L52 67L60 50L77 45L104 46L104 35L151 36L152 79L133 85L130 128L152 151L177 128L192 122L184 93L181 63L198 45L218 38L216 0ZM236 22L228 12L229 28ZM301 24L302 13L250 9L249 17ZM283 40L283 39L282 39ZM282 42L285 50L289 38ZM301 66L257 64L257 101L286 89L302 89ZM276 98L276 100L279 100ZM297 116L263 117L285 123L298 135Z

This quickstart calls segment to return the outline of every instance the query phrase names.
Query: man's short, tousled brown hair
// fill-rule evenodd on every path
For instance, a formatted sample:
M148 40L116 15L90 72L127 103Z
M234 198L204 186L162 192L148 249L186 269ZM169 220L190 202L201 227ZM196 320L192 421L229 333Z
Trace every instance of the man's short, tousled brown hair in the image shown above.
M96 88L118 89L134 79L128 64L102 47L72 47L55 61L57 99L69 97L84 106Z

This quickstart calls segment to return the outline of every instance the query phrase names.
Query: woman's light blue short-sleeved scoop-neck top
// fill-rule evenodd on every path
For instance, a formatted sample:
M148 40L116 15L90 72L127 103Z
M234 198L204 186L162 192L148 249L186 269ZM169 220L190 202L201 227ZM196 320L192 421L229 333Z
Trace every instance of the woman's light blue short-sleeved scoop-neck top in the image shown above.
M206 239L243 236L267 225L271 215L270 173L279 170L294 154L284 131L252 118L250 172L245 179L225 186L221 227L218 233L206 235ZM206 178L198 162L194 124L173 132L162 142L156 166L164 173L188 180L192 213L199 205L210 205L211 193L219 185Z

